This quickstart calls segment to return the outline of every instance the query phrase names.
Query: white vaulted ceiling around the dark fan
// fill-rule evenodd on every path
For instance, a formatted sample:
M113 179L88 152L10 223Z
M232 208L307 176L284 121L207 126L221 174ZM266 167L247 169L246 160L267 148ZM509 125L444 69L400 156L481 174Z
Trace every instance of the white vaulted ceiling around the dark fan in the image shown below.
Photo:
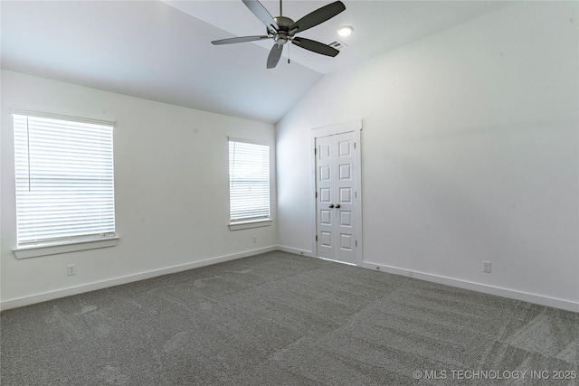
M294 21L328 1L283 2ZM289 44L265 68L271 41L241 0L0 2L2 68L188 108L275 123L321 77L508 5L492 1L343 1L346 11L299 33L319 42L354 33L336 58ZM278 16L278 1L261 2Z

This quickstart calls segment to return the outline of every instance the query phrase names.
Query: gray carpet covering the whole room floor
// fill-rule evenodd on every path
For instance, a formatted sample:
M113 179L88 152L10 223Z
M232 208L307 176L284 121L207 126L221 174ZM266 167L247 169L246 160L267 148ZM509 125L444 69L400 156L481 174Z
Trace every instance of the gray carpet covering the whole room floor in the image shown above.
M578 325L572 312L271 252L7 310L0 381L576 385Z

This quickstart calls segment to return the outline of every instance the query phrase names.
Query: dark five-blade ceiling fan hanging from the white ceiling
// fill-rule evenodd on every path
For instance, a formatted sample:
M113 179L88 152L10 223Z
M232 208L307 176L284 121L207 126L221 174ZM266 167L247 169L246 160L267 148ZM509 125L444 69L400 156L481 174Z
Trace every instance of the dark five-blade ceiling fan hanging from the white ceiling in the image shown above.
M232 44L236 42L254 42L265 39L273 39L274 44L271 47L270 55L268 56L267 68L273 69L280 61L283 45L287 42L292 42L298 47L311 52L317 52L322 55L336 56L339 51L334 47L330 47L322 42L316 42L310 39L296 36L296 33L306 31L311 27L322 24L340 12L346 9L346 5L341 1L337 1L305 15L294 23L289 17L282 16L281 0L280 0L280 16L271 17L267 9L257 0L242 0L252 14L255 14L261 23L265 24L267 29L266 35L257 36L240 36L228 39L215 40L214 44Z

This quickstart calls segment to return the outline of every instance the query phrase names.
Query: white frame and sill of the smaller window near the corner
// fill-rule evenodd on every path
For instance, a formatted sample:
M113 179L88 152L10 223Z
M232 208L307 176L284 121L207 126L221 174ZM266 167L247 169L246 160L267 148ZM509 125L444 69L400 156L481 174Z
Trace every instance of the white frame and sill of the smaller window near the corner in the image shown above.
M244 229L250 229L250 228L259 228L259 227L267 227L267 226L271 226L273 220L272 220L272 216L271 216L271 209L272 209L272 205L271 205L271 183L272 183L272 175L271 175L271 170L272 170L272 164L271 164L271 143L269 142L265 142L265 141L259 141L259 140L253 140L253 139L245 139L245 138L238 138L238 137L228 137L227 138L227 169L228 169L228 178L227 178L227 185L228 185L228 200L229 200L229 212L228 212L228 216L229 216L229 229L230 231L238 231L238 230L244 230ZM232 200L232 171L231 171L231 152L230 152L230 144L232 142L236 142L236 143L243 143L243 144L249 144L249 145L257 145L257 146L267 146L268 148L268 210L269 210L269 216L268 217L263 217L263 218L255 218L255 217L248 217L246 219L239 219L239 220L233 220L232 219L232 205L231 205L231 200Z

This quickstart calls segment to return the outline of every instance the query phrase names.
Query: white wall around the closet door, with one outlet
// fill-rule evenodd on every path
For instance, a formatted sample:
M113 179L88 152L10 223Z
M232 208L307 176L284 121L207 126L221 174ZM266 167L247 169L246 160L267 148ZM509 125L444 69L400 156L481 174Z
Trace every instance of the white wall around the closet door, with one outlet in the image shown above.
M320 80L277 125L280 245L312 249L310 129L363 118L365 267L579 310L577 9L523 2Z

